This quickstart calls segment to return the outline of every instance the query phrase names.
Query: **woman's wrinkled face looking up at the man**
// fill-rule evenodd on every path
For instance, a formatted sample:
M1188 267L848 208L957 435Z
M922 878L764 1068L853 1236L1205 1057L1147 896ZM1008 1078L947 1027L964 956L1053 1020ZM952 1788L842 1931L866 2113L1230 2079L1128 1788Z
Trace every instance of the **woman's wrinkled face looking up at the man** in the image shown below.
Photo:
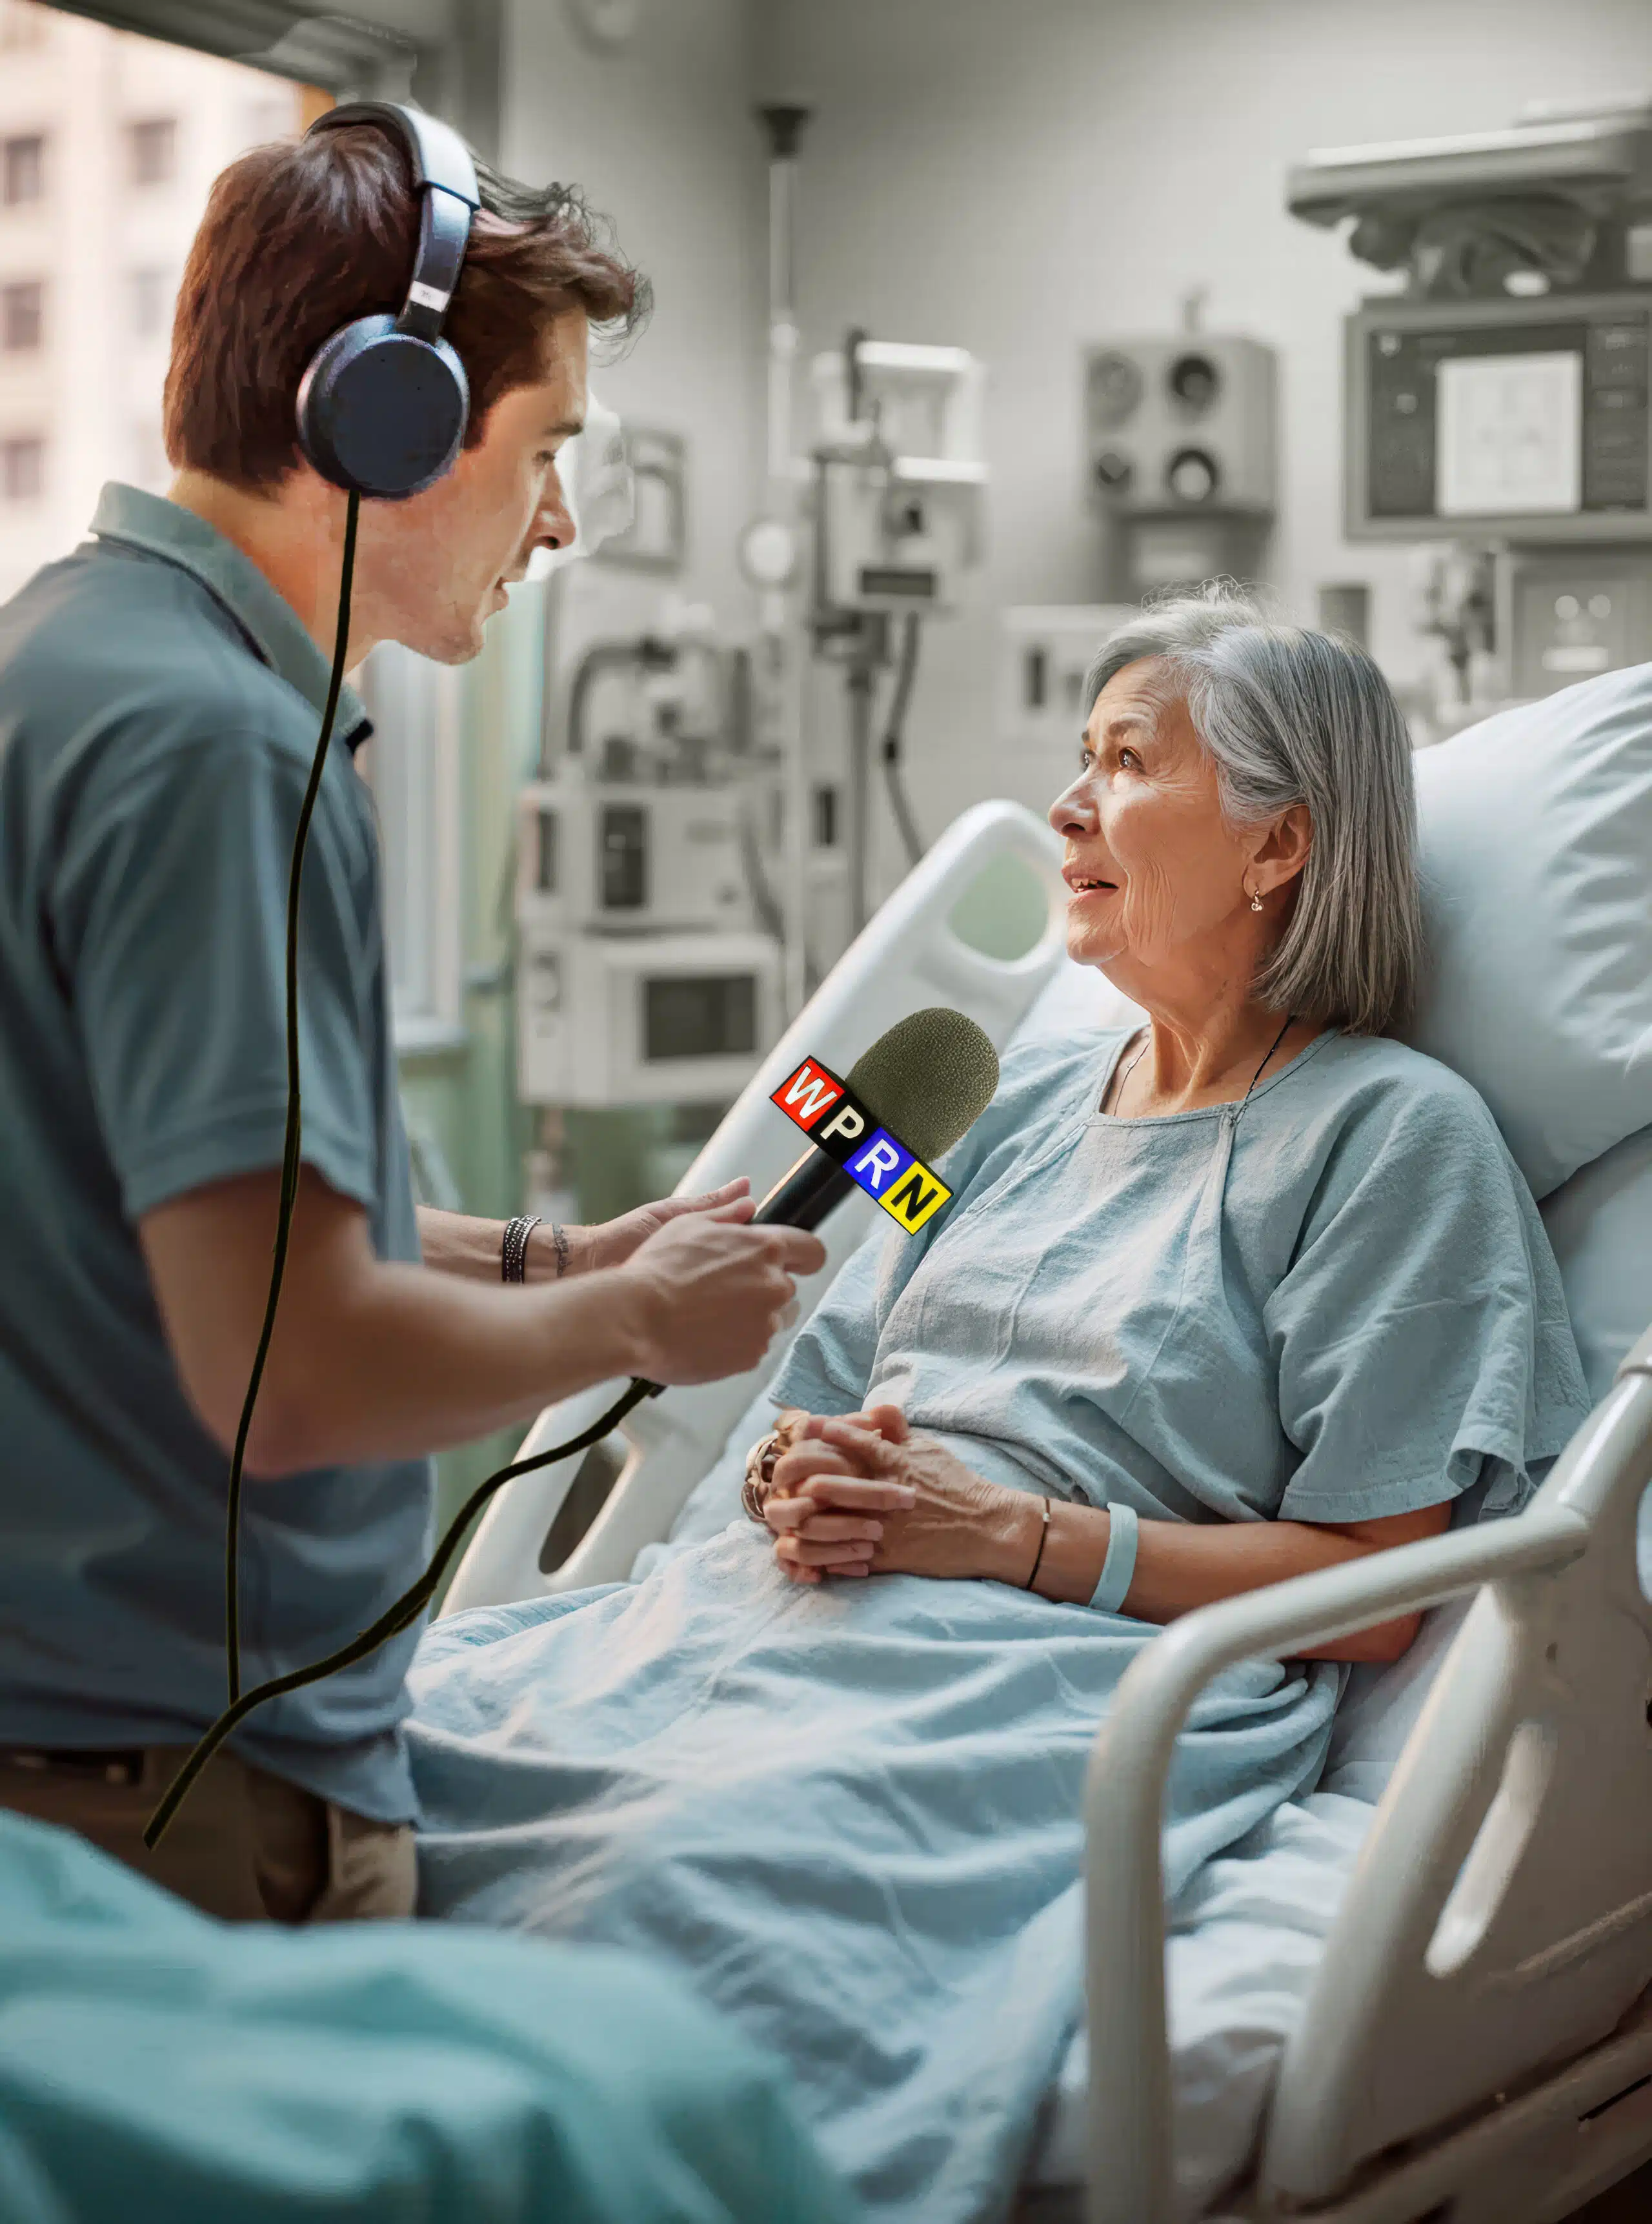
M1216 767L1158 658L1096 696L1078 778L1049 807L1065 843L1067 950L1118 987L1147 974L1250 965L1245 870L1256 852L1223 818Z

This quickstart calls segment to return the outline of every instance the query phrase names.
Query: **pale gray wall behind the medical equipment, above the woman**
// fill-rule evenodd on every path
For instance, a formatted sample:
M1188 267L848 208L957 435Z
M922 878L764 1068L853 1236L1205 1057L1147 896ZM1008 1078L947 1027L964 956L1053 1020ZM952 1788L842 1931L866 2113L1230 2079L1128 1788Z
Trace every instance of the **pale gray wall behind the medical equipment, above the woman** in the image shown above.
M1405 554L1341 538L1341 318L1385 280L1285 214L1285 171L1312 147L1652 91L1648 0L774 0L758 67L818 102L805 351L860 322L989 371L989 560L972 589L987 623L929 629L912 714L925 832L985 794L1043 805L1069 776L994 747L996 609L1098 598L1078 349L1176 329L1192 287L1207 329L1278 349L1270 578L1310 618L1318 583L1367 580L1379 658L1396 681L1421 672ZM820 747L840 723L818 687Z

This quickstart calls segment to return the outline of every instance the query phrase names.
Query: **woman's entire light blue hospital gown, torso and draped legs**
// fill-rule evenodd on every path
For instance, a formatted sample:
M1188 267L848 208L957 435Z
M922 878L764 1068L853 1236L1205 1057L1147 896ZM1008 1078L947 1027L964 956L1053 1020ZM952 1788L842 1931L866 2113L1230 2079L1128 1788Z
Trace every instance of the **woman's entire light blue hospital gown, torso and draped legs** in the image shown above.
M981 1475L1147 1519L1521 1503L1585 1394L1481 1101L1325 1036L1238 1119L1112 1121L1118 1050L1005 1061L954 1203L852 1261L778 1399L887 1397ZM458 1615L411 1675L422 1910L683 1970L789 2064L869 2217L987 2224L1078 2022L1083 1770L1152 1635L1003 1583L796 1586L745 1519ZM1172 1893L1312 1788L1338 1690L1247 1661L1201 1695Z

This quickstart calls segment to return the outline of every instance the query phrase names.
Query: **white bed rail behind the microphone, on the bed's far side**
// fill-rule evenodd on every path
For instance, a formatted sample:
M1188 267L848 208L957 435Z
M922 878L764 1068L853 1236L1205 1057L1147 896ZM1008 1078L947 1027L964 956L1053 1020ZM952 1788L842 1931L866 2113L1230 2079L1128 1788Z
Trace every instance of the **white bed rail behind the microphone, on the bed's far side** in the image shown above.
M952 914L972 881L1005 856L1029 865L1045 894L1043 932L1018 959L987 956L952 927ZM769 1094L805 1056L843 1072L885 1027L929 1003L967 1012L1003 1048L1063 961L1065 896L1061 843L1041 818L1018 803L978 803L963 812L838 959L676 1185L676 1194L749 1174L752 1190L760 1197L778 1181L798 1156L798 1134L774 1110ZM825 1221L820 1241L827 1265L798 1290L803 1319L832 1288L874 1212L869 1199L856 1197ZM545 1535L578 1461L540 1468L507 1483L460 1559L442 1615L623 1581L643 1546L667 1532L778 1357L780 1346L749 1374L671 1390L665 1399L638 1406L625 1421L623 1443L611 1446L623 1468L600 1515L569 1559L551 1572L540 1568ZM560 1406L547 1406L518 1457L529 1459L589 1428L623 1388L618 1381L598 1383Z

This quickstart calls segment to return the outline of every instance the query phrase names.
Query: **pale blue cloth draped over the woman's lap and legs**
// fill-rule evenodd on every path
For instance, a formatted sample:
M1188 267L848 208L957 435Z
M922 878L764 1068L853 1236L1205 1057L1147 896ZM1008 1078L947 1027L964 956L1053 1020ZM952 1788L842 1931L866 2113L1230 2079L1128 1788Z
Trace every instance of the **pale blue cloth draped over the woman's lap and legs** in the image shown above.
M798 1588L747 1523L438 1624L422 1913L640 1948L758 2048L874 2217L1005 2213L1081 2013L1081 1786L1143 1624L998 1583ZM1198 1701L1170 1890L1312 1786L1332 1666Z

